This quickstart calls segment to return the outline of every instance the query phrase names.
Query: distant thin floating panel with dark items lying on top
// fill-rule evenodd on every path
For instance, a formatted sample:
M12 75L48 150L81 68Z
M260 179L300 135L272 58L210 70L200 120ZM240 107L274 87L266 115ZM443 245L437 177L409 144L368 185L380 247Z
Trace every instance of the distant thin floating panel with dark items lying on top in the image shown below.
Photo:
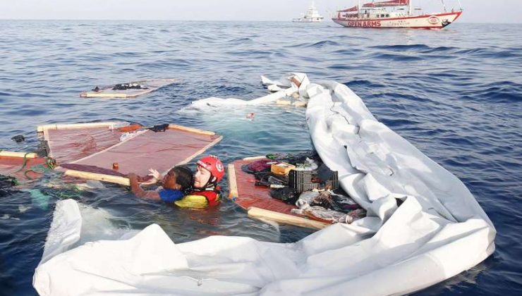
M156 80L140 80L123 83L123 85L140 85L142 88L133 89L130 88L128 90L113 90L116 85L111 85L109 87L102 87L97 92L94 90L89 92L81 92L80 97L82 98L133 98L138 97L142 94L148 94L149 92L154 92L154 90L159 89L160 87L164 87L166 85L171 85L175 82L178 82L176 79L156 79Z

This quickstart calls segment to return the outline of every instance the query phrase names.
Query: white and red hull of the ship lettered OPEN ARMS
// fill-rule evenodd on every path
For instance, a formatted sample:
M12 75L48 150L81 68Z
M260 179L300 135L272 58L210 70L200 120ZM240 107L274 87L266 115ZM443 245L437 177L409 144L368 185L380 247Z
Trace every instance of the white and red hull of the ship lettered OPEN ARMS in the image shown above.
M411 27L415 29L442 29L461 16L462 11L432 13L423 16L403 16L399 18L332 18L344 27Z

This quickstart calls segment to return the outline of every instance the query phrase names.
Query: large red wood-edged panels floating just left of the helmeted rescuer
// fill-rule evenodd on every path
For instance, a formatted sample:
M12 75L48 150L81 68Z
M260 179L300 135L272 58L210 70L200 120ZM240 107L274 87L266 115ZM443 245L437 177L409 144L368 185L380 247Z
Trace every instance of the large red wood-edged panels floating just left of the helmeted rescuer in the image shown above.
M214 132L172 124L162 132L114 122L41 125L38 132L59 166L74 167L66 175L121 185L129 185L128 173L145 177L149 168L166 173L187 164L222 139Z

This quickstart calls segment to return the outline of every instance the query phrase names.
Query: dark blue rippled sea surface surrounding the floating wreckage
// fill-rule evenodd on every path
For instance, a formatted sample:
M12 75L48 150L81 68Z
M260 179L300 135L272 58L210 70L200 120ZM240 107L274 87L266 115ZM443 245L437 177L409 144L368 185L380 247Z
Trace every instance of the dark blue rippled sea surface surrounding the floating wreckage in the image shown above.
M304 109L250 107L190 113L205 97L266 94L260 75L291 71L351 87L370 111L457 175L497 228L497 249L469 271L419 295L522 293L522 25L455 23L444 30L348 29L274 22L0 20L0 149L37 148L45 123L132 121L214 130L210 149L229 163L245 156L312 149ZM138 99L80 99L99 85L178 78ZM248 121L245 114L254 112ZM24 135L25 142L11 140ZM269 226L225 201L212 211L147 202L114 185L0 197L0 295L33 295L32 274L59 199L74 198L104 223L158 223L175 242L245 235L293 242L310 231ZM226 182L223 182L225 185ZM226 185L224 186L226 189ZM104 219L102 215L99 219Z

